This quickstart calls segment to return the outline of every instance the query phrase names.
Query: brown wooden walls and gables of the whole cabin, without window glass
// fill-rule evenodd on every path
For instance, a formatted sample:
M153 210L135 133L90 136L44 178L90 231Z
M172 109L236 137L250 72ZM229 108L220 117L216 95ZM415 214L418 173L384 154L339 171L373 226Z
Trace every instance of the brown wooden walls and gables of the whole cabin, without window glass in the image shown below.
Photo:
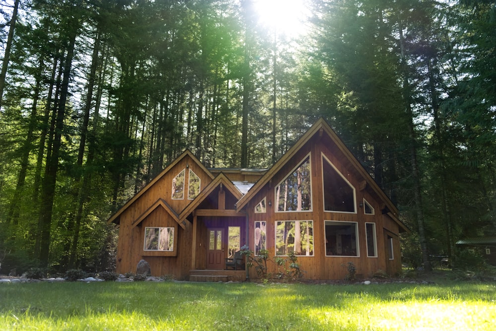
M357 275L363 277L369 277L377 270L384 270L390 275L400 272L399 232L408 229L398 220L396 207L378 189L358 161L351 159L351 153L331 131L320 121L320 124L310 129L312 134L306 133L305 139L300 139L274 167L266 171L212 169L209 172L186 151L109 220L120 224L117 272L135 272L139 260L145 259L150 264L152 274L156 276L174 275L177 279L185 280L219 279L226 274L206 274L202 271L207 267L209 228L223 229L227 241L229 226L239 226L240 246L248 244L253 251L254 224L265 221L266 249L273 260L276 223L297 220L312 221L313 225L313 254L298 257L305 278L343 279L348 273L346 266L350 262L355 265ZM310 156L310 210L276 211L275 188L307 156ZM326 159L324 162L330 162L355 189L353 212L324 210L323 157ZM201 180L201 193L194 200L187 197L189 169ZM172 199L172 182L183 170L184 199ZM231 181L255 184L243 197ZM329 193L326 197L329 197ZM264 198L266 212L255 213L255 206ZM373 214L365 214L364 199L373 208ZM349 205L347 203L348 208ZM326 221L357 224L355 237L350 237L356 241L357 256L326 256ZM377 254L371 257L367 250L367 223L375 224ZM174 228L174 251L145 251L143 246L146 227ZM224 245L227 247L227 242ZM225 251L227 257L227 249ZM218 257L218 252L216 254ZM275 264L269 264L269 268L268 272L280 271ZM249 277L257 277L254 269L249 270Z

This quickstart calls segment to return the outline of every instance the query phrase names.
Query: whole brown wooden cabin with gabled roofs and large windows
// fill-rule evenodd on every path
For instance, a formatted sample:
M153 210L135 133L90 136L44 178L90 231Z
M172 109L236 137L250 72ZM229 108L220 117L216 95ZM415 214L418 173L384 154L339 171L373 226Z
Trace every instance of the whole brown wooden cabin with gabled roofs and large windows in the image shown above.
M117 272L144 259L156 276L191 281L257 278L225 270L247 245L291 252L308 279L401 271L398 210L322 119L270 169L207 169L185 151L110 219ZM276 266L269 264L269 272Z

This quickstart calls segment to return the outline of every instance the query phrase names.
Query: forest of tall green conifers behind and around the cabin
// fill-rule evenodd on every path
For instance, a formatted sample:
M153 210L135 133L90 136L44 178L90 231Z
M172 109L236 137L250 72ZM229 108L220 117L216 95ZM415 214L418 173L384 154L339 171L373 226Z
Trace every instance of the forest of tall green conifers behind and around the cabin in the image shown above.
M186 148L267 168L323 117L412 229L496 234L496 1L0 0L1 273L112 268L109 216ZM291 40L290 40L291 39Z

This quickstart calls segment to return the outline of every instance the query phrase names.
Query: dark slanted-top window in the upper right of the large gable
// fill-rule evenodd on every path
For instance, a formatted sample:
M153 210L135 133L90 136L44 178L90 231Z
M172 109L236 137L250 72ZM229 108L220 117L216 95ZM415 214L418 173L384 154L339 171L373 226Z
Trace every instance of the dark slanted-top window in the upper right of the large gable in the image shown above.
M322 155L322 178L324 210L356 212L355 188L324 155Z

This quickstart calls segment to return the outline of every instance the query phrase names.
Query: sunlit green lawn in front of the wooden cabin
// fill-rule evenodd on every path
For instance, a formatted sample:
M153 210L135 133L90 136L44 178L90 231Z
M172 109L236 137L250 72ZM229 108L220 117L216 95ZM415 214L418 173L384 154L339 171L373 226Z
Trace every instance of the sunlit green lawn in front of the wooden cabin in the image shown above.
M0 284L0 330L495 330L496 284Z

